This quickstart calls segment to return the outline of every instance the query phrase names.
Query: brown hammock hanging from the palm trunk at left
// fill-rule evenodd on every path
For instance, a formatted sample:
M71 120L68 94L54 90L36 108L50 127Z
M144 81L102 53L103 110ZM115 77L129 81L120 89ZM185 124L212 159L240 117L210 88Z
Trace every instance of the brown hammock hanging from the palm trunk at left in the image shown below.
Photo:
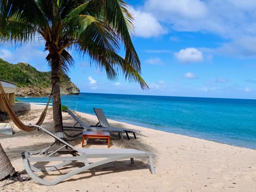
M7 113L9 114L10 118L12 119L13 123L22 131L26 131L26 132L31 132L31 131L35 131L37 129L37 127L31 127L28 125L23 124L20 119L17 117L16 113L14 112L14 110L12 109L12 106L9 102L9 99L6 97L6 93L4 92L4 88L2 86L2 83L0 81L0 97L4 103L5 106L5 110L7 111ZM43 110L41 116L39 117L36 125L41 125L44 121L44 118L46 116L47 113L47 109L50 103L52 97L52 93L49 96L49 99L47 101L47 104L45 106L45 109Z

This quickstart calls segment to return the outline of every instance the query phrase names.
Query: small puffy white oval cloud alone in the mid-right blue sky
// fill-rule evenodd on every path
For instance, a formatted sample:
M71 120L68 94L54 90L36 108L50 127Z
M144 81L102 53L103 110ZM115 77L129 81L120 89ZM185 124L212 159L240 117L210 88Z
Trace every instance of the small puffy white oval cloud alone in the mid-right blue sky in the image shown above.
M174 55L182 63L203 61L203 53L195 48L182 49Z

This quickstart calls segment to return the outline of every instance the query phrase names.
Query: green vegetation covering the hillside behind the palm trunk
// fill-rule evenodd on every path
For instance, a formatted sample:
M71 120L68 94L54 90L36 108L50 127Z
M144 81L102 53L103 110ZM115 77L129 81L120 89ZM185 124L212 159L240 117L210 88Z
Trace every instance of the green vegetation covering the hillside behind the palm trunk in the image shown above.
M46 88L51 86L51 71L41 72L28 63L19 62L13 65L0 59L0 79L16 83L18 87L37 86ZM67 78L63 82L67 81L70 81L70 79Z

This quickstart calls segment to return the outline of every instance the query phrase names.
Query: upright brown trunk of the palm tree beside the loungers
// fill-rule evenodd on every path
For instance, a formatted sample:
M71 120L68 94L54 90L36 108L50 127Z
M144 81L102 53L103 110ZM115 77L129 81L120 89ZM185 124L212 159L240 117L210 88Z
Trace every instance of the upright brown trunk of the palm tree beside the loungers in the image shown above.
M53 122L55 133L63 133L62 114L61 114L61 101L60 101L60 73L59 73L59 62L60 55L58 53L52 54L51 57L52 66L52 110L53 110ZM59 137L63 137L61 134Z

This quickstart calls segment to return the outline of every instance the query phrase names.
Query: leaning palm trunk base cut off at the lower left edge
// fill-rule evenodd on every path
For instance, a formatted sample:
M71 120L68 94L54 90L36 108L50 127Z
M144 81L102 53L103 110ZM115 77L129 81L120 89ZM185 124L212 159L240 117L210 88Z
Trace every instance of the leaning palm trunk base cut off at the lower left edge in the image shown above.
M0 143L0 180L4 179L8 175L13 175L15 170L11 164L9 157L6 155L1 143Z

